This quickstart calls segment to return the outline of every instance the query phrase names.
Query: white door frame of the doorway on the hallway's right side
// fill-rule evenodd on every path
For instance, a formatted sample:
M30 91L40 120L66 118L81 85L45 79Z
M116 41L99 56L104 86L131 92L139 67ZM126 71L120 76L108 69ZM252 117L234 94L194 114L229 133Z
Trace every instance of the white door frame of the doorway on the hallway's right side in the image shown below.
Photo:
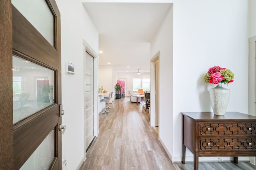
M156 68L156 61L159 61L159 68L160 68L160 51L158 51L156 53L156 55L154 55L154 57L152 57L152 59L150 60L150 126L156 126L156 96L155 94L157 94L156 92L156 75L155 75L155 68ZM158 78L159 77L160 72L158 73ZM159 83L159 80L158 80ZM158 92L159 95L159 92ZM158 97L159 99L159 97ZM158 100L158 106L159 106L159 100ZM158 117L160 117L160 112L159 112L159 107L158 107ZM158 121L160 121L160 119L158 118ZM160 125L160 122L158 123ZM160 127L158 128L158 136L160 134Z

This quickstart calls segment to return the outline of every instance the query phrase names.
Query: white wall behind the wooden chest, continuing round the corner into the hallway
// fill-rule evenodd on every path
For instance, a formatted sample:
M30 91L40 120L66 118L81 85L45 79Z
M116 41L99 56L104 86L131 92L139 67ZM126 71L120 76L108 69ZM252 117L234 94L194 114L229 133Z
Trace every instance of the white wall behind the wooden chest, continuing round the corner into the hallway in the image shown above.
M174 162L180 161L182 155L180 112L212 111L208 89L214 86L202 79L208 68L219 65L234 72L234 82L227 87L231 90L227 111L248 114L247 3L243 0L174 0L173 63L172 42L163 36L172 37L170 13L152 41L151 57L160 51L159 137ZM173 74L173 79L172 75L165 75L166 72ZM172 90L165 90L163 96L162 89L167 85ZM168 108L165 103L170 98L173 99L171 112L170 103ZM187 151L186 156L192 154Z

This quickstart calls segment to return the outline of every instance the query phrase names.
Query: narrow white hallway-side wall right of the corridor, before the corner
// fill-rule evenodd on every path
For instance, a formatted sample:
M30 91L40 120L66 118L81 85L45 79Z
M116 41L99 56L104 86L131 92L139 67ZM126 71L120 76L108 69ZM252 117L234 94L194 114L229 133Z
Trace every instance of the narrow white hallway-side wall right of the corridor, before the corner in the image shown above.
M159 139L173 152L173 6L151 42L151 57L159 55ZM179 73L178 73L179 74ZM153 91L153 90L152 90Z

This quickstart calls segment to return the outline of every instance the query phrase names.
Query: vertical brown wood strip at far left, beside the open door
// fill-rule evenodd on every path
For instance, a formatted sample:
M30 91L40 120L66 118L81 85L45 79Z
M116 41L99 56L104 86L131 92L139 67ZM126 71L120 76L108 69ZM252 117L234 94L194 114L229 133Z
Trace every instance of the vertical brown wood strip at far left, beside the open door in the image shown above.
M13 164L13 100L12 100L12 4L0 0L0 164L14 169ZM4 156L3 156L4 155Z

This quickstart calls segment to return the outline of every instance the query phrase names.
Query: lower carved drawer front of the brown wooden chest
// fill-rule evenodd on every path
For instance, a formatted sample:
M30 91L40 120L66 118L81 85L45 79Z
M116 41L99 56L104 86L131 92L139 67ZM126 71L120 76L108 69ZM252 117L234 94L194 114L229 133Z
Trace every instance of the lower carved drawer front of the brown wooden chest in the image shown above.
M256 150L255 138L200 138L201 150Z

